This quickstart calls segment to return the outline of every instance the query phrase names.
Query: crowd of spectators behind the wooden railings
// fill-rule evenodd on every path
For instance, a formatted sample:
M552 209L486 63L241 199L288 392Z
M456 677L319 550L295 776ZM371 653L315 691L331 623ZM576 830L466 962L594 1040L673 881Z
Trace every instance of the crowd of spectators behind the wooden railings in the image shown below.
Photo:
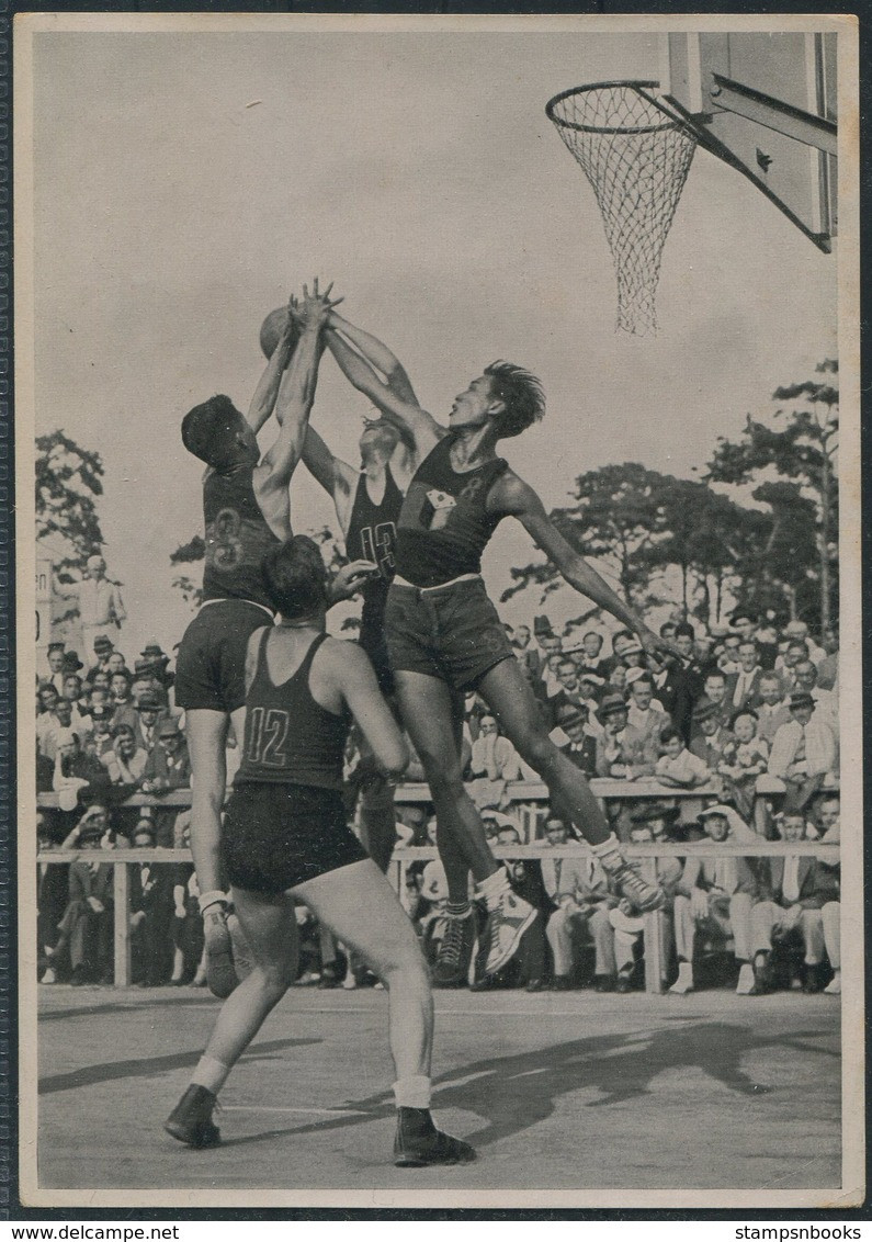
M619 837L688 845L687 856L657 861L667 894L658 946L663 984L679 994L699 980L729 980L739 992L756 994L799 980L809 991L838 991L838 867L831 856L693 856L699 840L838 841L835 636L819 646L805 622L776 628L771 617L758 621L737 610L729 626L711 631L667 622L661 633L681 660L661 660L625 630L607 635L570 623L558 633L537 616L532 627L507 631L558 746L589 777L615 782L605 805ZM190 786L170 657L149 642L130 669L106 633L96 635L88 657L86 667L76 651L51 643L36 688L37 791L57 795L56 806L40 811L40 843L77 852L70 866L40 864L43 982L112 976L113 868L101 853L184 848L189 831L188 811L161 806L169 791ZM513 786L538 777L475 693L465 715L465 775L488 837L509 856L512 846L542 851L508 861L514 887L538 910L519 954L487 985L471 971L471 986L593 984L619 994L641 986L643 920L552 809L519 814ZM231 751L231 774L234 760ZM347 776L353 815L360 782L353 741ZM412 755L406 781L421 777ZM627 790L640 781L650 796ZM149 805L132 806L133 794L150 795ZM397 842L434 841L432 806L420 796L404 801L399 789ZM93 861L78 856L86 851ZM193 867L150 858L132 877L134 981L201 982ZM405 868L400 898L431 958L446 897L438 859ZM299 923L303 981L373 981L304 909Z

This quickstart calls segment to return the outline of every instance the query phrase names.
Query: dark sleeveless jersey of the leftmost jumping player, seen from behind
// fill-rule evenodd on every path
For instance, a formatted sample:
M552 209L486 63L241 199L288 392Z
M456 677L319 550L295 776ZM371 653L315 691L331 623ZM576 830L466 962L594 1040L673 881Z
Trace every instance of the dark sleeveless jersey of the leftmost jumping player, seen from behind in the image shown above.
M263 589L261 561L279 539L255 497L253 466L226 474L209 471L202 484L206 564L202 599L252 600L273 611Z

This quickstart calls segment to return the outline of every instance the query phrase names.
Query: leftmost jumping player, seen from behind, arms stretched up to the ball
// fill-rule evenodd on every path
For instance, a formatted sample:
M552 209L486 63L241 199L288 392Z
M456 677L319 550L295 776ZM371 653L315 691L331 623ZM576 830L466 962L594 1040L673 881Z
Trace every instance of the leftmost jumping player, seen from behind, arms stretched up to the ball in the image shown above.
M335 303L333 303L335 304ZM299 461L314 399L329 289L306 296L291 314L255 391L247 419L215 396L184 419L189 452L206 463L204 602L179 648L175 700L185 709L191 756L191 852L200 886L209 984L219 996L236 985L219 864L225 746L232 718L242 737L243 663L248 636L272 619L261 580L267 550L291 535L288 483ZM294 339L298 342L294 348ZM260 457L257 432L276 411L279 433ZM353 569L353 566L352 566Z

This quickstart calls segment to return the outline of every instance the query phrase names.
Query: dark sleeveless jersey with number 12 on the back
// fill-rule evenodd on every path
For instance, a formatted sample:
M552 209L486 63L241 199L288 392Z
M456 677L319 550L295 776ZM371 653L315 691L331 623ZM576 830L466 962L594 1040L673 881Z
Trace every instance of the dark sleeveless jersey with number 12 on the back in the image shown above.
M342 790L348 713L335 715L316 703L309 689L312 661L325 633L318 635L292 677L270 678L267 627L257 650L257 668L246 699L245 746L235 784L316 785Z

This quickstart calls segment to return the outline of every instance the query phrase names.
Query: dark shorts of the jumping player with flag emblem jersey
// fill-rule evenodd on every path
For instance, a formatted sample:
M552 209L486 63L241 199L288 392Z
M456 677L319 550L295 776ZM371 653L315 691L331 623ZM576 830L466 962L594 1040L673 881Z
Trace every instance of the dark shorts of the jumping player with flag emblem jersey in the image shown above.
M426 673L456 691L514 656L481 578L426 591L394 582L385 633L395 673Z

